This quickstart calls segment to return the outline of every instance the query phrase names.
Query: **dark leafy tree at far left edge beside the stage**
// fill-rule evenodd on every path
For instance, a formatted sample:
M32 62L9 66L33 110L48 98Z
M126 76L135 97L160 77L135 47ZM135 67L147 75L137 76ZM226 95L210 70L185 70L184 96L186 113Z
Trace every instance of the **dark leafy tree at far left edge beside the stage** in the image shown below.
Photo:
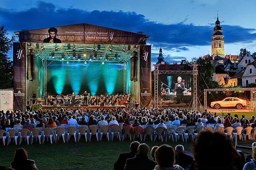
M13 87L13 62L7 53L12 48L12 39L7 37L5 26L0 26L0 89Z

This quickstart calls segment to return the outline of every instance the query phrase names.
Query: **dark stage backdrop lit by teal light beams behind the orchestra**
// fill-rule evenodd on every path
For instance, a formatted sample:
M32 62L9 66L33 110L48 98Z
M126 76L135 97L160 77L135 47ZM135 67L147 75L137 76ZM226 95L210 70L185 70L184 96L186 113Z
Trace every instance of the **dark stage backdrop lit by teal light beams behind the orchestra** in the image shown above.
M47 95L115 95L124 91L123 64L115 62L47 62Z

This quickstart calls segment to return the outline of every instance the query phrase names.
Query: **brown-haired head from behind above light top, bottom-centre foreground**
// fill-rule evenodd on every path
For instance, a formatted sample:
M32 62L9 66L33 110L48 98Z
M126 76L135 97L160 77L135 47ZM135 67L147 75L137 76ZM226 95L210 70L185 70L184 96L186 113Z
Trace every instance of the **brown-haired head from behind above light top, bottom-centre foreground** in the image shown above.
M174 149L169 145L161 145L155 151L156 164L161 168L173 167L175 163Z

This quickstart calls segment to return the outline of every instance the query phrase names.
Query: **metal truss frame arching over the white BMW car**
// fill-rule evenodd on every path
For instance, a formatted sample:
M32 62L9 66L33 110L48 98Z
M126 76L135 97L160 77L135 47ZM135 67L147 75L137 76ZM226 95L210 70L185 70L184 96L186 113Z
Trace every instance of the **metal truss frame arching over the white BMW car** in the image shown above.
M207 108L207 92L212 91L251 91L251 100L249 109L256 109L256 88L217 88L204 89L204 108Z

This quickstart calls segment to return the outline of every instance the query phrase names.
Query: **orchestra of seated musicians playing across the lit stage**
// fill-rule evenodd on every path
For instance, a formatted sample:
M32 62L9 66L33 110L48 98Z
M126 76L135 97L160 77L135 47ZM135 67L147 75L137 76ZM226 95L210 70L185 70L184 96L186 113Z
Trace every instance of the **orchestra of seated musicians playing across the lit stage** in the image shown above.
M54 98L53 96L48 96L47 97L47 104L48 105L53 105L56 104L59 106L60 104L68 104L75 106L81 105L81 104L88 104L88 106L94 106L94 105L112 105L114 106L115 104L117 105L125 105L125 103L130 103L131 102L131 94L116 94L112 96L90 96L89 93L86 91L84 92L83 95L75 95L74 92L69 95L62 95L59 94Z

